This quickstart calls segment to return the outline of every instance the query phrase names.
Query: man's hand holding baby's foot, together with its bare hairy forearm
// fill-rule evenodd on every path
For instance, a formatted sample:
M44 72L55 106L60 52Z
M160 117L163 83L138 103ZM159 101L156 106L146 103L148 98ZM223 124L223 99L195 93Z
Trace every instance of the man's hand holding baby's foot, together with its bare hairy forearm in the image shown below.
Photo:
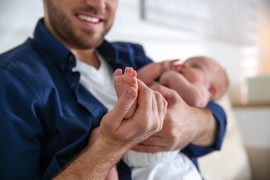
M132 118L124 120L137 98ZM161 93L138 80L136 89L127 89L100 123L100 135L55 179L105 179L111 168L130 147L158 132L163 125L167 102ZM98 129L99 131L99 129ZM98 134L98 132L96 133Z

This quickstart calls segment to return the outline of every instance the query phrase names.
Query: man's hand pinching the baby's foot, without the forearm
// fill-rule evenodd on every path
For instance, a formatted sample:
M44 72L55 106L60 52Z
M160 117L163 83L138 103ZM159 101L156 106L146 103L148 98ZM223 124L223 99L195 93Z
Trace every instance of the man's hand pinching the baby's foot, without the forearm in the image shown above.
M127 93L134 93L134 88L129 88ZM153 91L141 80L138 80L138 107L128 120L123 120L132 103L126 103L126 98L120 97L116 107L112 109L101 121L100 137L110 145L127 145L127 149L140 143L145 138L161 130L167 111L167 101L161 93Z

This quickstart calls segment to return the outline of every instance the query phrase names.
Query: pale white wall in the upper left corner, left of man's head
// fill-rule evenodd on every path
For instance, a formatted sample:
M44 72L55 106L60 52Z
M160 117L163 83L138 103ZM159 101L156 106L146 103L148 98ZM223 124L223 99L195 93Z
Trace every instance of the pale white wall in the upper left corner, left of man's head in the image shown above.
M42 3L42 0L1 1L0 53L33 35L37 19L44 14Z

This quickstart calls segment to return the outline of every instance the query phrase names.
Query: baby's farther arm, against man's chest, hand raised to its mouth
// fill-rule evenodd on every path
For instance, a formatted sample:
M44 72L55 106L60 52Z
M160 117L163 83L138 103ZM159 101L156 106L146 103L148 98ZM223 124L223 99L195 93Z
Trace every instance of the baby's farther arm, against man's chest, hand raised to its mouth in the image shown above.
M159 78L165 71L176 69L175 62L179 60L168 60L163 62L153 62L143 66L137 71L137 78L143 81L147 86L150 86ZM175 68L174 68L175 66Z

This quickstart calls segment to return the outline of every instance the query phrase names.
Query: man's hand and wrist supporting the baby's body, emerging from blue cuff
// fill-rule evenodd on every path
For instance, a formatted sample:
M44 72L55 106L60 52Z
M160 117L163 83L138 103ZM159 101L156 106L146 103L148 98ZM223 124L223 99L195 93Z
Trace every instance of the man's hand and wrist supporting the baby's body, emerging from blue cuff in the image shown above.
M154 85L152 89L159 91L168 101L163 129L136 145L133 150L161 152L183 149L190 143L212 145L217 125L208 109L188 106L172 89L160 85Z

